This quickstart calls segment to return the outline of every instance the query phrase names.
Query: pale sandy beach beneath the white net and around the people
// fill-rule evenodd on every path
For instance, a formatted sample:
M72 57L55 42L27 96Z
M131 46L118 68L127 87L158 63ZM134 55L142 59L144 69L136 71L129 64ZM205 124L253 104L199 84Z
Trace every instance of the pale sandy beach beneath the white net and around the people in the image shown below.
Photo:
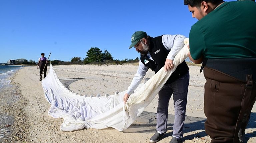
M136 65L68 65L53 66L63 85L82 95L113 95L116 91L127 90L138 66ZM49 69L49 66L48 66ZM206 119L203 112L204 83L203 73L199 66L189 66L190 83L184 125L185 143L210 143L210 137L204 131ZM153 71L148 71L146 77L152 77ZM81 129L72 132L60 131L62 118L48 115L50 104L44 97L39 70L36 67L24 67L12 78L13 87L1 92L1 113L8 114L13 120L4 126L9 128L9 134L0 138L0 142L57 142L57 143L149 143L155 132L156 108L158 97L144 110L128 129L119 132L113 128ZM5 109L3 109L5 108ZM168 132L159 143L169 143L173 125L173 99L169 102ZM251 119L245 131L248 143L256 142L256 105L251 113ZM2 124L0 124L2 125Z

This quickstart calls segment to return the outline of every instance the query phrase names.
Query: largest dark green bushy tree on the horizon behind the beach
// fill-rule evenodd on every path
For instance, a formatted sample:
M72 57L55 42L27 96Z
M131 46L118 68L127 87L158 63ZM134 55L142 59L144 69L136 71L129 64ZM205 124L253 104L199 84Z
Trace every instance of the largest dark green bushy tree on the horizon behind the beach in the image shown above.
M86 53L86 57L83 60L84 64L88 64L88 63L92 63L92 62L101 62L103 61L102 58L102 50L100 50L100 48L97 47L91 47Z

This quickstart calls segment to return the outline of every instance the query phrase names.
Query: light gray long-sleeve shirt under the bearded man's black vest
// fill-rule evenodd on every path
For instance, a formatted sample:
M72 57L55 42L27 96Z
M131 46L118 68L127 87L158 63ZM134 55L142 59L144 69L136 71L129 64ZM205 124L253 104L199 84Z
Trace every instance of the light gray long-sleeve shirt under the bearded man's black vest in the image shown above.
M183 35L163 35L162 36L162 42L164 47L168 51L170 51L166 57L167 59L170 59L170 60L174 59L176 54L183 48L184 46L183 41L185 38L186 37ZM147 53L147 57L153 60L149 52ZM137 73L133 77L133 80L130 86L128 87L128 90L126 91L128 95L131 95L132 93L134 93L134 90L139 86L140 82L146 75L146 72L148 71L148 69L149 67L144 65L141 61L139 62Z

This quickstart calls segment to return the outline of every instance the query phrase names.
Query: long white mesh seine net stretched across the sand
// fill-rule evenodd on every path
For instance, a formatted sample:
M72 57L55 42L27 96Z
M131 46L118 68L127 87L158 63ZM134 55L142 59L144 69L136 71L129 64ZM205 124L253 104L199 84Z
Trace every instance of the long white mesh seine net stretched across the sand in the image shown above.
M127 129L151 103L176 67L188 57L187 38L184 43L173 60L174 68L169 71L161 68L150 80L138 86L126 104L123 103L126 91L97 97L85 97L70 91L50 65L48 75L42 81L45 98L51 104L48 115L64 119L60 126L63 131L107 127L119 131Z

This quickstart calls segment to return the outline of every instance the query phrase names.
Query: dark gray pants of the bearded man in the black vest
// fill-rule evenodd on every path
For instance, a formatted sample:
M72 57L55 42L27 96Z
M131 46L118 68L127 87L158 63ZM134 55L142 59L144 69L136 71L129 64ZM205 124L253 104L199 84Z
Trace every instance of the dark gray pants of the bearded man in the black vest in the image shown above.
M185 121L187 96L189 85L189 72L170 84L166 84L159 91L158 107L156 116L156 130L166 133L169 100L173 94L173 105L175 118L173 124L173 136L183 136L183 125Z

